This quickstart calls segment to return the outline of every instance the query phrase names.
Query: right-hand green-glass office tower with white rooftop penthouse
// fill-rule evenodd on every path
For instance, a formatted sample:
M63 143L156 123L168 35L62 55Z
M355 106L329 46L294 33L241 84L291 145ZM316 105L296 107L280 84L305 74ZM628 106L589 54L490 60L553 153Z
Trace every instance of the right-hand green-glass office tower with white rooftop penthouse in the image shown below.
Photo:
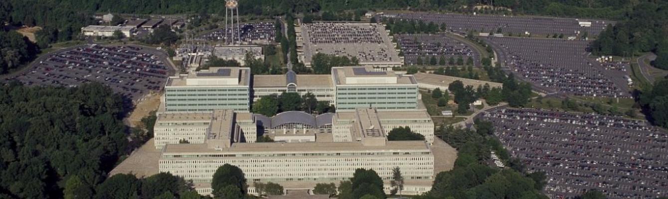
M337 112L369 107L389 111L418 108L418 83L412 75L372 67L333 67L331 76Z

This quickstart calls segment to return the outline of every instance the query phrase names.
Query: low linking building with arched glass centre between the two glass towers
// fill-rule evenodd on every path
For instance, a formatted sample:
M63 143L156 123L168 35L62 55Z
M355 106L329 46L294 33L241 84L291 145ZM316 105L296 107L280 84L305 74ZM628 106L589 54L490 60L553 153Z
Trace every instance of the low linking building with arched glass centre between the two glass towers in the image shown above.
M288 71L285 75L254 75L253 101L268 95L281 93L311 93L319 101L334 101L334 86L330 75L297 75Z

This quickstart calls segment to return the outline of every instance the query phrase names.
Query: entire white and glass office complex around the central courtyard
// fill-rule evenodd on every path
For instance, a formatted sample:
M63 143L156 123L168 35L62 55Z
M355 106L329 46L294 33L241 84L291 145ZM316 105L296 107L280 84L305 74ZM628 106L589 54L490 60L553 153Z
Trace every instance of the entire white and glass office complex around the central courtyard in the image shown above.
M313 93L337 112L264 116L249 111L253 100L281 93ZM162 99L154 126L159 171L192 180L200 194L211 193L212 176L223 164L241 168L251 193L253 182L311 189L319 182L347 180L357 168L391 180L391 170L399 167L407 180L405 193L420 194L440 171L432 148L434 122L418 108L412 75L366 66L334 67L331 75L251 76L248 68L211 67L171 77ZM387 139L393 128L403 126L425 140ZM257 142L261 136L273 142Z

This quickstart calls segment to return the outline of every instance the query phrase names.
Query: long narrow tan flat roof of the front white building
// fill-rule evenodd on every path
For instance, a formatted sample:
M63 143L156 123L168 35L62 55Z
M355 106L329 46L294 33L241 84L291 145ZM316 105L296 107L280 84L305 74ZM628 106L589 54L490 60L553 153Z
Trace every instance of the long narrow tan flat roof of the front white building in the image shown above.
M388 141L384 146L364 146L362 142L301 142L301 143L234 143L230 148L215 150L206 144L167 144L162 154L238 154L248 153L282 153L282 152L355 152L355 151L430 151L424 141Z

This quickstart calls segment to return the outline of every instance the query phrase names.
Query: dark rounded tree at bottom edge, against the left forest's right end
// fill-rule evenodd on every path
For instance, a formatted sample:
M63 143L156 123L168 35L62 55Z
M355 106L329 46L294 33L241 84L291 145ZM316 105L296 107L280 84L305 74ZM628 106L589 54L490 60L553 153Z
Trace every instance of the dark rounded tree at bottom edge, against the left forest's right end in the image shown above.
M139 198L140 181L134 174L116 174L96 188L96 199Z

